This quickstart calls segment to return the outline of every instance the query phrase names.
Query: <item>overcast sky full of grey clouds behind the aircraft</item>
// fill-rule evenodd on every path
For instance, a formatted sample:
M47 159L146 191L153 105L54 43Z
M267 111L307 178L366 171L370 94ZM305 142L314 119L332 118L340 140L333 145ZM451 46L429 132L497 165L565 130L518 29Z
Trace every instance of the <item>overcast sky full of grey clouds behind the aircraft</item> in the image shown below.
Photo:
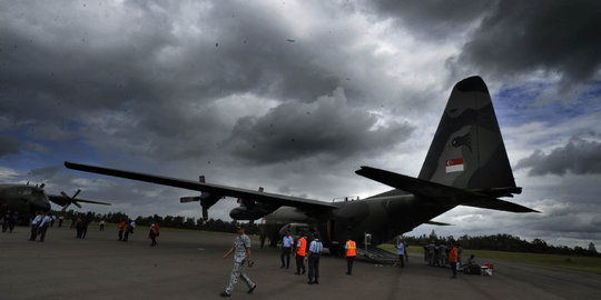
M65 160L332 201L416 177L454 83L481 76L542 213L455 208L407 234L601 246L599 1L0 1L0 182L200 217L197 192ZM235 199L209 210L229 220ZM58 207L55 207L58 209Z

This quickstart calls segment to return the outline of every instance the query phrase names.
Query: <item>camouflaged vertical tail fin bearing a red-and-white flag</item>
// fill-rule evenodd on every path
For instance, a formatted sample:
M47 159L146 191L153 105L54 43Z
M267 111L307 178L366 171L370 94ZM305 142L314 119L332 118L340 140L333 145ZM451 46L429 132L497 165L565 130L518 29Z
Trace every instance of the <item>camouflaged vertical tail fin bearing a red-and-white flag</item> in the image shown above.
M418 179L467 190L515 187L482 78L453 88Z

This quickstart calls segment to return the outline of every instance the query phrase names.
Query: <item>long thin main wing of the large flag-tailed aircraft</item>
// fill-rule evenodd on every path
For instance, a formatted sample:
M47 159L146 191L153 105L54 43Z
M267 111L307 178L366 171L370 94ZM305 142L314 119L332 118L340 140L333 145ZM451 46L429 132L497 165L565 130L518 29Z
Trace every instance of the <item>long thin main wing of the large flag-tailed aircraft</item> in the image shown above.
M175 188L210 192L220 196L227 196L233 198L240 198L246 200L254 200L258 202L265 202L269 204L287 206L287 207L298 207L304 209L332 209L337 208L337 206L319 200L305 199L299 197L292 197L285 194L254 191L248 189L240 189L234 187L218 186L213 183L204 183L191 180L184 180L177 178L169 178L155 174L138 173L125 170L109 169L97 166L89 166L76 162L65 162L65 167L73 170L99 173L105 176L112 176L119 178L127 178L131 180L145 181L161 186L169 186Z

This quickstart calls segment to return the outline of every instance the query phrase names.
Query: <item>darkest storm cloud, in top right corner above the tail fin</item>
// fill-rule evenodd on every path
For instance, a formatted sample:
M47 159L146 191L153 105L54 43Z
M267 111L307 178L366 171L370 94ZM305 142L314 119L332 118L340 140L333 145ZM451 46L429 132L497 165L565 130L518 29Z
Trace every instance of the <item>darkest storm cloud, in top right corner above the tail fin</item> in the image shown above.
M370 3L370 2L368 2ZM599 1L377 1L421 40L463 39L449 60L454 73L511 78L543 71L561 77L563 90L584 83L601 66Z

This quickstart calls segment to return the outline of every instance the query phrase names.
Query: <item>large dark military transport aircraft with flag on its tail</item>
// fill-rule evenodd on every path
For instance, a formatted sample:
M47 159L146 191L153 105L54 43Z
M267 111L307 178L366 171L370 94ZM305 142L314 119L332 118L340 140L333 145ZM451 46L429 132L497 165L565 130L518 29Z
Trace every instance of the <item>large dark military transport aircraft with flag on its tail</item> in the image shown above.
M152 182L200 191L199 197L181 201L199 201L203 216L223 197L239 199L240 206L229 216L235 220L256 220L276 228L269 238L277 239L277 228L305 223L321 233L328 247L344 244L351 237L359 244L366 232L372 244L380 244L422 223L431 221L456 206L469 206L509 212L538 212L508 202L500 197L521 193L515 187L505 146L501 137L489 89L482 78L471 77L453 88L443 117L417 178L372 167L362 167L357 174L392 188L364 200L325 202L284 194L254 191L145 174L104 167L65 162L69 169Z

